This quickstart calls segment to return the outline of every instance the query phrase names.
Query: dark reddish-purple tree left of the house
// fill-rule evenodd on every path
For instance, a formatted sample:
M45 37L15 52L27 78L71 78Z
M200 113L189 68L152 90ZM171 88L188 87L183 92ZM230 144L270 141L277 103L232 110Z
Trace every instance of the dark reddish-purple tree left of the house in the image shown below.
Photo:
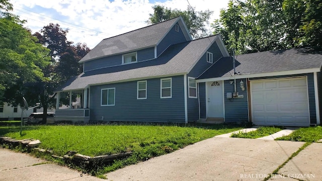
M34 34L39 43L50 49L51 55L51 64L43 70L45 75L50 77L50 81L38 81L30 85L37 87L30 94L39 95L39 100L44 108L44 116L47 108L56 105L56 94L53 92L69 77L83 72L83 64L78 61L90 51L86 44L73 45L73 42L67 40L67 33L68 29L63 30L58 24L50 23L44 26L40 32ZM61 101L65 104L69 103L69 99L61 99ZM46 123L46 119L43 118L44 123Z

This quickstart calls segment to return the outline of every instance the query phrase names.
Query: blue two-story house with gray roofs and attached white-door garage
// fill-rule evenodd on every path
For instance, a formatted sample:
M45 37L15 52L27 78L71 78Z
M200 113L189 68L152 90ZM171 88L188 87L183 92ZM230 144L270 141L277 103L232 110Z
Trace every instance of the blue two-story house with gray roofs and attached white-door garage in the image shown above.
M291 49L234 61L220 35L192 40L177 17L102 40L57 90L56 107L62 97L70 106L56 109L56 121L319 124L321 60ZM81 108L72 109L75 95Z

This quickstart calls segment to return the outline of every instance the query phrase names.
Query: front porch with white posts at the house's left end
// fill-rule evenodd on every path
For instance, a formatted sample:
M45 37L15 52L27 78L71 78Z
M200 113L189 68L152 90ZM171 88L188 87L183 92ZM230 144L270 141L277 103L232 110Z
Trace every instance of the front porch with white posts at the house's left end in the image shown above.
M90 121L89 89L58 92L56 100L56 123L71 122L88 124Z

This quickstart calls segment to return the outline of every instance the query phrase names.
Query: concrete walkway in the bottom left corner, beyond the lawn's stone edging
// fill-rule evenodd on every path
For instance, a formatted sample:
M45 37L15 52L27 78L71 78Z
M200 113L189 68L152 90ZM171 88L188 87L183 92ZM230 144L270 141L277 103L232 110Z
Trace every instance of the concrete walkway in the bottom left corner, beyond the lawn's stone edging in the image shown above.
M0 180L2 181L99 181L105 180L82 174L25 153L14 152L0 146Z

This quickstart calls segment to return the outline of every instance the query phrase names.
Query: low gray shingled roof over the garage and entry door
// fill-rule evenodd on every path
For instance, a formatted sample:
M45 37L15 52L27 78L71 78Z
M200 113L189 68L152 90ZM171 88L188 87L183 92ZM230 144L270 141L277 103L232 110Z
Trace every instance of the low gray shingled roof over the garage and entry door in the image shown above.
M281 72L321 68L322 52L307 49L288 49L249 53L235 57L235 70L243 74ZM225 57L214 63L198 79L226 77L233 74L232 57Z

